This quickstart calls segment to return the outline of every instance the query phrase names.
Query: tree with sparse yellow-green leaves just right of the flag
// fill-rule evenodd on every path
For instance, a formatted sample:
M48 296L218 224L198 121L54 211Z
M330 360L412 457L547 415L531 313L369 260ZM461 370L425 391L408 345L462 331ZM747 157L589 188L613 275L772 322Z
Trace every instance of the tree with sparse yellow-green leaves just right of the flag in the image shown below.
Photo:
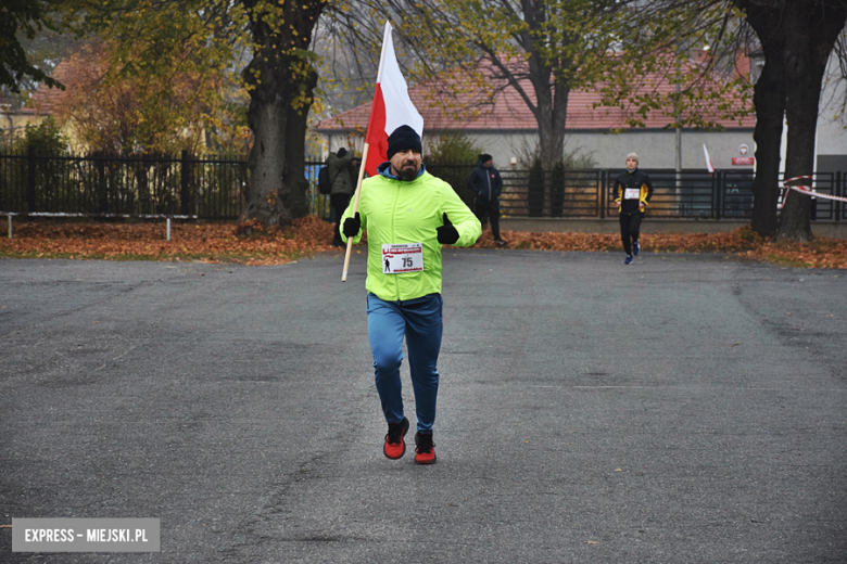
M541 156L549 167L564 154L571 89L596 77L594 54L617 41L614 18L603 17L618 5L611 0L359 0L358 5L361 13L391 16L401 59L403 52L413 55L412 76L442 88L445 111L466 94L479 107L503 89L515 89L535 116ZM363 28L372 29L355 23L362 38Z

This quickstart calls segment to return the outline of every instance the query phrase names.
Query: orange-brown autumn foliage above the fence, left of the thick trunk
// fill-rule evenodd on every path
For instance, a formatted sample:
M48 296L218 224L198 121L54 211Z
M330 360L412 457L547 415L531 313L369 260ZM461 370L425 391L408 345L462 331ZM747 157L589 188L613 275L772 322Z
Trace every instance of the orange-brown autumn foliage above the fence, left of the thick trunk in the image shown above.
M225 72L190 64L186 55L151 62L147 74L139 74L128 63L117 68L117 56L114 47L90 42L56 69L67 89L53 94L52 113L75 150L132 155L186 149L200 154L211 137L243 144L243 128L229 124L233 117L222 93ZM243 92L232 91L238 94Z

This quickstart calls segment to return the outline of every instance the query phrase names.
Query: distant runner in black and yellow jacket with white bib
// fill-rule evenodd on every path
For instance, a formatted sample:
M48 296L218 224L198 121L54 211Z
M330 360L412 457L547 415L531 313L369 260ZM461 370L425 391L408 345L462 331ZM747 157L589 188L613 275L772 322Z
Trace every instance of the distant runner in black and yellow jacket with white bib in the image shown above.
M620 211L620 239L623 242L623 252L627 253L624 265L632 264L632 257L639 256L641 245L639 235L641 221L647 203L653 197L653 183L646 172L639 170L639 155L627 155L627 171L621 172L615 180L615 192L618 197L615 204Z

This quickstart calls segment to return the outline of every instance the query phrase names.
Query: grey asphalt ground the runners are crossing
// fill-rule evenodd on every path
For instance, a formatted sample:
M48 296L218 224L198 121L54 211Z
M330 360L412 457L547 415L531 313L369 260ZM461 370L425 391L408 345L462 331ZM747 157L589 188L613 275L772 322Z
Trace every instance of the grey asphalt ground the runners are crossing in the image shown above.
M434 466L381 453L364 254L0 260L0 562L847 562L847 272L622 258L445 253Z

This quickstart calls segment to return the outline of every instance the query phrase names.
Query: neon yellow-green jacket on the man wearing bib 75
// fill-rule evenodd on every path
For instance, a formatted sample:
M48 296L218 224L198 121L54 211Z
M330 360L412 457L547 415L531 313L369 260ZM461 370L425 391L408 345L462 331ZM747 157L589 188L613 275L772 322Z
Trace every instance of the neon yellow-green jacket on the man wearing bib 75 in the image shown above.
M380 174L362 182L358 213L362 229L368 231L368 275L365 287L387 302L414 299L441 293L441 243L435 229L444 222L443 215L459 233L456 246L470 246L482 231L477 216L456 195L453 188L433 177L421 165L421 174L410 182L389 175L388 163ZM355 197L355 195L354 195ZM341 217L353 217L353 205ZM342 239L347 238L342 231ZM353 243L362 240L362 231ZM423 270L400 274L382 273L382 245L396 243L423 244Z

